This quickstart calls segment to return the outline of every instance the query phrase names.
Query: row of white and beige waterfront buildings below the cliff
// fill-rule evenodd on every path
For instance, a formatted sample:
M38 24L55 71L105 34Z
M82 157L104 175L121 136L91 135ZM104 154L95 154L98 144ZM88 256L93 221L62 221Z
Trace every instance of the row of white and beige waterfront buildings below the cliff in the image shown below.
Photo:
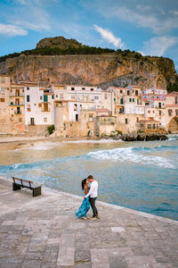
M131 132L178 133L178 92L163 88L51 85L0 75L0 133L57 137Z

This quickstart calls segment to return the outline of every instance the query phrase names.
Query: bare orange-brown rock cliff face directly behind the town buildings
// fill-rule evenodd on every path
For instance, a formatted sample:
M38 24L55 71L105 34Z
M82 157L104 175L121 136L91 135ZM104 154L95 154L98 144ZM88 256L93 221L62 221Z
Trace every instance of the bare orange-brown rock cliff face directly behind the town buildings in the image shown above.
M144 58L127 58L122 54L21 54L0 63L0 73L11 75L13 81L39 81L44 86L55 83L102 85L108 88L132 84L166 88L176 82L177 74L172 60Z

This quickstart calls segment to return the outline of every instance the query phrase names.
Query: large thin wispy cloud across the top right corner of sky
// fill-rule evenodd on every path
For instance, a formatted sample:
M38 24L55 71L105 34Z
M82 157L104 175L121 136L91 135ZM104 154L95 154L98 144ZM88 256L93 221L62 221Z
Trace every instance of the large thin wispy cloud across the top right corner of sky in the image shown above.
M178 29L178 4L168 2L158 4L157 0L83 0L85 7L93 8L105 18L131 22L137 27L151 29L154 33L163 34L170 29ZM177 2L178 3L178 2Z

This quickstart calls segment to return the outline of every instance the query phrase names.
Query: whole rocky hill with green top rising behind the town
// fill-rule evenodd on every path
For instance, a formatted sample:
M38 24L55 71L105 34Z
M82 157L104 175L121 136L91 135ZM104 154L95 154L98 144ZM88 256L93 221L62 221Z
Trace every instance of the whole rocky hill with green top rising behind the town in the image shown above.
M174 62L164 57L142 56L129 50L85 46L74 39L44 38L35 49L0 58L0 73L13 81L49 84L83 84L158 87L176 90Z

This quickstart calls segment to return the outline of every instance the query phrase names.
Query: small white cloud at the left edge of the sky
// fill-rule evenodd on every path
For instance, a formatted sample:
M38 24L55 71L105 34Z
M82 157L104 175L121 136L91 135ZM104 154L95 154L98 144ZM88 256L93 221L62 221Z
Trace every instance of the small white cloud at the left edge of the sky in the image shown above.
M26 36L28 31L21 29L16 25L0 24L0 35L15 37L15 36Z

